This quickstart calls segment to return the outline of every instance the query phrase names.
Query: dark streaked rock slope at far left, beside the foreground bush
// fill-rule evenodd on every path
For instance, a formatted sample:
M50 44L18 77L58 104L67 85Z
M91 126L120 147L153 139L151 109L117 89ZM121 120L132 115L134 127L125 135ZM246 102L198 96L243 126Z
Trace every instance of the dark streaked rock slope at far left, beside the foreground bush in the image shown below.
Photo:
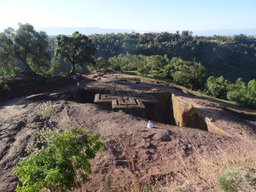
M37 128L33 112L36 106L33 103L14 104L1 108L0 191L14 191L18 182L12 175L12 169L26 155L26 144L35 139L32 131Z

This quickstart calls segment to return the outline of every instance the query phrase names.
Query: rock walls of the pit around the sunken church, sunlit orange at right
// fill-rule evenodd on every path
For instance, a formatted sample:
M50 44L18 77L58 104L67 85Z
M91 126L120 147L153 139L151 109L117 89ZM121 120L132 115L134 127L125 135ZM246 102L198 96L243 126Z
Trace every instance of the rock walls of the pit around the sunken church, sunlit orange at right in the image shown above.
M82 90L79 90L82 91ZM101 92L100 90L95 93ZM89 94L91 93L91 94ZM92 102L90 99L85 98L88 95L93 98L95 93L85 91L82 92L73 92L70 100L76 102ZM199 112L196 108L194 108L191 104L183 100L183 97L176 96L173 93L159 91L159 92L148 92L153 95L158 103L144 103L145 105L145 119L152 119L154 121L158 121L168 125L177 125L180 127L190 127L196 128L203 131L209 131L212 133L216 133L219 135L224 135L228 137L232 137L229 133L219 128L217 125L214 125L211 117L207 117L201 112ZM84 97L85 96L85 97ZM93 100L93 99L92 99ZM106 103L105 103L106 104ZM109 110L111 110L111 102L107 103L109 106ZM106 106L105 106L106 108ZM135 109L137 110L137 109Z

